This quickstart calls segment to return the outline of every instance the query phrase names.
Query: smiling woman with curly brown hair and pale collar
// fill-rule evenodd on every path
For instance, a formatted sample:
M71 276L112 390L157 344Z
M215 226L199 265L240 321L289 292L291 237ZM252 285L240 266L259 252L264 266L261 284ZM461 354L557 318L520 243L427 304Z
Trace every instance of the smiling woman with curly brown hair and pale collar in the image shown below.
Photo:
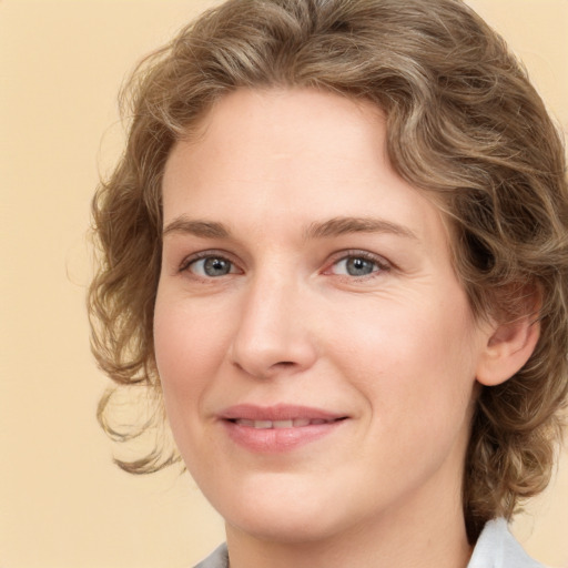
M202 567L538 566L567 397L566 164L457 0L229 0L131 82L94 352L225 519Z

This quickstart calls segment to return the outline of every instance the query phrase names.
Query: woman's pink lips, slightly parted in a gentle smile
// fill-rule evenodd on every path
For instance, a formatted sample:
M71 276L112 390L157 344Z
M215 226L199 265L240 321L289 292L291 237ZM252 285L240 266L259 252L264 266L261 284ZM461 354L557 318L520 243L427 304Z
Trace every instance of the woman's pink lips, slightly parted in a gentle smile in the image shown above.
M292 452L334 433L348 417L306 406L237 405L220 419L230 438L253 453Z

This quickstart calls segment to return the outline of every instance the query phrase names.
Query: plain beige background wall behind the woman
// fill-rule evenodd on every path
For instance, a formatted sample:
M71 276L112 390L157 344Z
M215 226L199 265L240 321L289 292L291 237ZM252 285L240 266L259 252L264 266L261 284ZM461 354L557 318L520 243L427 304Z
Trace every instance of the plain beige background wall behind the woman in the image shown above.
M206 0L0 0L0 567L192 566L222 525L187 476L131 477L94 420L84 232L134 62ZM568 0L476 0L568 131ZM101 143L102 140L102 143ZM568 567L568 459L516 525Z

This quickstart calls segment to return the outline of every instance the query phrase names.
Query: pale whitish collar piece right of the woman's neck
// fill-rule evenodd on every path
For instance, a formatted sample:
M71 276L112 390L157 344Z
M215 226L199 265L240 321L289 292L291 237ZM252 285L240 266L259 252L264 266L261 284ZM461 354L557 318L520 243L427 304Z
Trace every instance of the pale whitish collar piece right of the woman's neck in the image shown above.
M505 519L494 519L485 525L467 568L545 567L525 552Z

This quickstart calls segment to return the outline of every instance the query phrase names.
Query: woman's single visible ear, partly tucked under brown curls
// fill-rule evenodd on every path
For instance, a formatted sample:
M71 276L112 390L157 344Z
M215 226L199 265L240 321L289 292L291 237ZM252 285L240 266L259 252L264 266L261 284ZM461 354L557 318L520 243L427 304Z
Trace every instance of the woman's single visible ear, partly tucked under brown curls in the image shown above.
M540 323L529 315L497 325L479 359L477 381L486 386L505 383L530 358L539 335Z

